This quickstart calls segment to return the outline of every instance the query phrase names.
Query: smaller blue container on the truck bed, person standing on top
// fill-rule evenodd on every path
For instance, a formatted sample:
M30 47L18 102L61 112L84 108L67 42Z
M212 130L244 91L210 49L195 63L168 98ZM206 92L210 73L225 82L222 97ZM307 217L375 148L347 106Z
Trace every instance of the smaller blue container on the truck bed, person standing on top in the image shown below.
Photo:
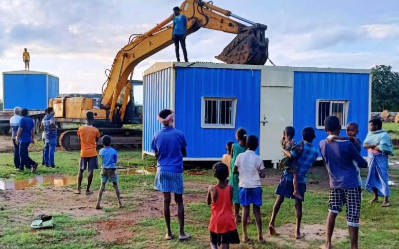
M44 110L50 98L59 93L59 79L41 72L3 72L3 102L5 110L19 106Z

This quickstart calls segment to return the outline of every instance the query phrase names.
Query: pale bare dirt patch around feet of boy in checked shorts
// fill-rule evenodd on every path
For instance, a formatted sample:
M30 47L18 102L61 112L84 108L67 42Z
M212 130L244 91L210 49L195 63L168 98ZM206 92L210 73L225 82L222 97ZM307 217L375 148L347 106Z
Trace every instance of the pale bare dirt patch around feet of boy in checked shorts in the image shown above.
M307 224L302 225L301 233L305 234L305 237L301 240L296 240L295 234L295 224L283 224L282 226L276 228L279 236L270 236L267 234L266 241L276 242L285 244L285 246L294 246L296 248L308 248L309 241L321 241L321 243L326 239L326 226L322 224ZM345 229L334 228L333 233L333 243L334 241L344 240L349 236L348 231Z

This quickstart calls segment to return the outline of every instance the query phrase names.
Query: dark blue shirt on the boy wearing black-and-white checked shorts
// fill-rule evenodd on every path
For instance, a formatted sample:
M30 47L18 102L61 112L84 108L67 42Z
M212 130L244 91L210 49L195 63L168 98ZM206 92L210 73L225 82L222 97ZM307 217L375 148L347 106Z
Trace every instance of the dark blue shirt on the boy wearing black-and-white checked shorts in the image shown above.
M367 162L349 140L337 140L327 143L320 141L320 152L330 175L330 188L360 187L358 171L353 160L360 168L367 168Z

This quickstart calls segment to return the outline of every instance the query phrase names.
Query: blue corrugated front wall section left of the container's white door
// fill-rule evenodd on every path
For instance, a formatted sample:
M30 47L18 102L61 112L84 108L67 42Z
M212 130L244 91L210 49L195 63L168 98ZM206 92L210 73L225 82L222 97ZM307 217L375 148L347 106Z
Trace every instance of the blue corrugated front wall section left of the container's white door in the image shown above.
M260 70L176 67L175 84L175 123L186 136L188 158L219 159L239 127L259 137ZM235 127L202 128L203 97L236 98Z

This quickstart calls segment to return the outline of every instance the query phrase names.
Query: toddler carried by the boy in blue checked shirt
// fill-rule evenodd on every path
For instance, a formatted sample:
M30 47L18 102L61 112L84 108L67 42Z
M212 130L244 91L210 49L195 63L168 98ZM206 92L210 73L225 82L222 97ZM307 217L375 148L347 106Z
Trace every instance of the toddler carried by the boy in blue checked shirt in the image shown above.
M292 126L287 126L283 132L283 138L281 139L281 146L283 147L283 152L285 151L296 151L296 153L300 154L303 149L303 143L298 145L294 140L292 140L295 136L295 129ZM288 173L292 173L294 184L294 192L292 193L298 199L302 199L303 197L299 194L298 190L298 174L297 174L297 162L294 158L287 156L288 153L284 153L284 157L281 159L279 163L279 167L284 169L284 171Z

